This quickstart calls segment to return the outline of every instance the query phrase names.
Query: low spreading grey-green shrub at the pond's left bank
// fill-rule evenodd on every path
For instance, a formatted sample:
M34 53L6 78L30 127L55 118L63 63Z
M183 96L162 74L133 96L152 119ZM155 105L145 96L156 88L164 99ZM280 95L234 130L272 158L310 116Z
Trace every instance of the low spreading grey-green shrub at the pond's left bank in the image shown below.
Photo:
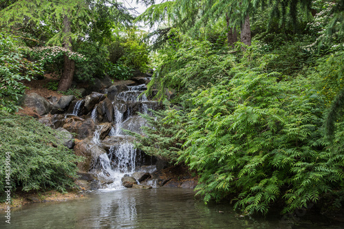
M63 132L45 127L29 116L0 111L0 175L6 177L6 153L10 153L10 184L5 186L24 191L54 188L65 191L74 186L76 162L80 158L63 146ZM58 138L56 138L56 136ZM3 200L3 196L1 196Z

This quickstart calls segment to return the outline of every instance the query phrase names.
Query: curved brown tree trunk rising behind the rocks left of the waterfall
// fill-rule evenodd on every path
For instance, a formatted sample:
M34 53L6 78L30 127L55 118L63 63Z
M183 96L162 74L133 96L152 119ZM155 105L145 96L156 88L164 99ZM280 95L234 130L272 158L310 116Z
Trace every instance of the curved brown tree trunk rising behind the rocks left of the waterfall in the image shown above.
M63 38L63 47L66 50L69 50L72 52L72 37L70 36L71 28L70 28L70 21L65 15L63 17L63 34L65 37ZM73 76L74 76L74 69L75 69L75 63L73 60L71 60L68 57L68 54L64 54L64 65L63 65L63 72L60 79L60 82L58 83L58 91L67 91L69 87L72 85Z

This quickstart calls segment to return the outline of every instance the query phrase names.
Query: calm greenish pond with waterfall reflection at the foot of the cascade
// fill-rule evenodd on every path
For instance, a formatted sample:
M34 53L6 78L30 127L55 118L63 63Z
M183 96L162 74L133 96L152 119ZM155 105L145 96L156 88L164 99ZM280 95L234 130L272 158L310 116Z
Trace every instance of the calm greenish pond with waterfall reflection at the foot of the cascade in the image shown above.
M85 199L31 204L11 215L0 228L341 228L306 216L297 226L272 220L236 217L228 204L204 205L182 188L124 189L97 192ZM2 215L0 215L1 218ZM314 218L314 217L313 217ZM321 219L317 219L318 221Z

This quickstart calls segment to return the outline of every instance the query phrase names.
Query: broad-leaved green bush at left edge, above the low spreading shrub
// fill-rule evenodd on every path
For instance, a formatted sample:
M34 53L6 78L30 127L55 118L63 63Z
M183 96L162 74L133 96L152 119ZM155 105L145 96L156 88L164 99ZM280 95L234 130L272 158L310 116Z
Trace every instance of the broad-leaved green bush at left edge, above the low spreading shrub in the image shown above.
M42 74L41 68L25 58L14 36L0 32L0 110L18 111L25 86L21 80L31 80Z

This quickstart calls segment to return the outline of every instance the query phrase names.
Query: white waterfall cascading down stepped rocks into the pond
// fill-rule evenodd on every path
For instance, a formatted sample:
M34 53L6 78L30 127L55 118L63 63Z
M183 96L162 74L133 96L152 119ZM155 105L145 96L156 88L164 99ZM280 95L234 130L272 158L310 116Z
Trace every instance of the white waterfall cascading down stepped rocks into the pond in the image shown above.
M136 157L138 156L138 151L134 148L131 143L133 138L131 136L125 135L122 131L122 127L126 124L125 129L130 129L131 126L142 126L142 120L137 120L133 118L132 112L127 105L135 102L136 105L140 106L139 111L142 113L147 113L149 106L144 102L148 102L146 95L140 96L142 91L146 89L145 85L129 86L128 91L122 91L118 94L116 100L113 102L114 105L114 128L111 128L109 132L109 137L116 144L111 146L108 153L103 153L98 156L98 162L94 168L100 179L105 180L105 186L103 190L116 190L122 189L121 178L124 175L131 175L136 172ZM140 97L139 97L140 96ZM126 112L126 113L125 113ZM92 119L96 120L96 107L92 111ZM100 126L98 126L100 127ZM101 129L96 128L94 132L93 141L100 145L98 134ZM151 172L155 169L152 167L145 168L145 172Z

